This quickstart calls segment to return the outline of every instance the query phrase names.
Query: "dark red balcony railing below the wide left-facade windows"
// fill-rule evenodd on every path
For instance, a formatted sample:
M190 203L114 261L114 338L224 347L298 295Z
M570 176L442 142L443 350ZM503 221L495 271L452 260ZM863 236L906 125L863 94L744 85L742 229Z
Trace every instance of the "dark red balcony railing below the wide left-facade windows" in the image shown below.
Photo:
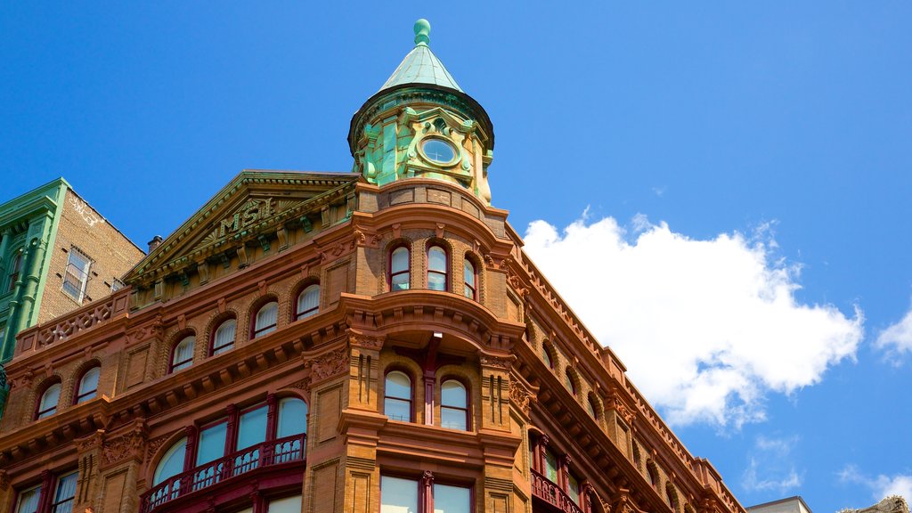
M305 459L306 443L306 434L285 436L252 445L192 468L162 481L143 494L140 512L149 513L178 497L185 497L257 468L302 461Z

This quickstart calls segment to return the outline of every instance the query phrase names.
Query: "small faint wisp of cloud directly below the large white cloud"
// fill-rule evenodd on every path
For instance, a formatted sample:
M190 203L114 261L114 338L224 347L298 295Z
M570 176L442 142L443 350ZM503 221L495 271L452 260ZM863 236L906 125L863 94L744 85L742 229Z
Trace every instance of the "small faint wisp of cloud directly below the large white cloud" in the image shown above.
M791 457L797 442L797 437L758 436L741 476L741 486L748 491L773 491L778 495L800 487L802 478L795 471Z

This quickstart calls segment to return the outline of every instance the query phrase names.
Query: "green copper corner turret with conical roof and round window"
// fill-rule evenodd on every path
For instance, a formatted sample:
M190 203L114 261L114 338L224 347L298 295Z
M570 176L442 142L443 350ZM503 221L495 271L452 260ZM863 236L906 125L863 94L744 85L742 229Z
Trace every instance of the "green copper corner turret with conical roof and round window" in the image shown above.
M430 51L430 24L415 22L415 47L351 119L353 171L384 185L412 177L457 183L491 204L488 113Z

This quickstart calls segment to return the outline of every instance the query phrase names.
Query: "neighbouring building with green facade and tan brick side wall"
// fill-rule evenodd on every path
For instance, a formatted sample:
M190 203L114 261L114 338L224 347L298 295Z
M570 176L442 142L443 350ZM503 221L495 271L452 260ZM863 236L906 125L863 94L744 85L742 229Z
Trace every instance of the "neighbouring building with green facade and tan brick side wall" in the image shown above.
M144 255L63 178L0 204L0 377L16 333L108 296Z

